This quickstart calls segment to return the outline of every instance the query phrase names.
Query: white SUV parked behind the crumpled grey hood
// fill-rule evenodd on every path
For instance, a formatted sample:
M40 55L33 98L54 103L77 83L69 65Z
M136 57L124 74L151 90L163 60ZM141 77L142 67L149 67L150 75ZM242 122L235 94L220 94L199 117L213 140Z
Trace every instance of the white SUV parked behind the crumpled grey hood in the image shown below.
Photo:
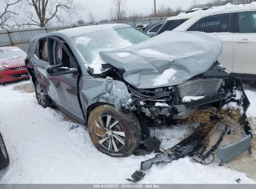
M165 30L201 31L217 35L223 45L218 61L237 76L255 79L255 2L183 12L167 19L158 34Z

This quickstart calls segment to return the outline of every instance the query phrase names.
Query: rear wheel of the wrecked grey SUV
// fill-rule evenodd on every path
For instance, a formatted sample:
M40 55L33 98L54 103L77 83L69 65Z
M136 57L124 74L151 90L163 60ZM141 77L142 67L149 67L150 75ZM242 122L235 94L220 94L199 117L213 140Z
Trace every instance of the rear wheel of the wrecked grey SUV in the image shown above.
M36 80L35 82L35 91L36 91L36 98L37 102L43 107L51 107L52 104L50 103L49 97L44 93L44 90L42 89L42 86L38 83Z

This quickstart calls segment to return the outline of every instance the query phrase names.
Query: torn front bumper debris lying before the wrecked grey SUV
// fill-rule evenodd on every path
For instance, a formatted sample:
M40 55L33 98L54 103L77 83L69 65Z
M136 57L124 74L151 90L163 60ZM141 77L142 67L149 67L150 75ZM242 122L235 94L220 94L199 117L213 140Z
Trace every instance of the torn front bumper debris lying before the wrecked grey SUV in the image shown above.
M192 114L190 118L187 118L187 120L197 121L196 117L198 116L198 118L200 118L198 119L198 122L200 123L199 128L197 128L196 131L194 131L190 136L186 137L186 139L174 145L174 147L164 150L163 152L157 154L153 159L141 162L140 170L131 175L132 179L128 178L126 180L130 182L140 181L146 175L145 170L151 168L153 164L169 163L173 160L178 160L186 156L197 157L197 159L206 160L209 155L214 152L214 150L218 149L219 145L222 144L223 141L225 142L224 137L230 135L230 132L237 128L237 125L240 126L239 130L242 133L242 139L232 142L231 144L224 145L223 147L219 147L217 157L220 160L220 165L225 164L225 162L233 159L234 157L237 157L237 155L242 154L242 152L245 152L246 150L249 150L249 154L251 154L250 148L252 132L250 131L250 125L245 114L250 105L250 102L242 87L242 81L240 79L234 78L232 84L233 85L231 86L231 90L233 90L234 93L231 94L229 98L225 99L225 104L236 102L237 105L241 106L243 109L243 114L240 115L239 118L237 115L230 114L230 112L223 113L223 110L217 112L201 110L201 113L204 113L204 116L207 116L207 119L204 120L201 120L202 117L200 115L198 116L198 112L197 114ZM236 96L236 93L240 93L242 96ZM205 118L204 116L203 118ZM211 144L211 142L209 142L209 136L218 130L219 136L217 141L214 141Z

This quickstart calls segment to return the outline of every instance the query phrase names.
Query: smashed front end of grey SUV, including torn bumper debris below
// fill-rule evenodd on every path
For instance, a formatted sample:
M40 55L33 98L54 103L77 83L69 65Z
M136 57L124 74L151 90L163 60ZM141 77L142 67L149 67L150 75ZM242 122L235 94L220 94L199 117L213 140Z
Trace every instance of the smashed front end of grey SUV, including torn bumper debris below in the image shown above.
M173 122L199 123L183 141L141 162L140 170L129 181L141 180L153 164L186 156L196 157L202 163L216 150L223 165L245 150L251 154L252 132L245 114L249 99L242 81L225 72L217 62L206 73L180 85L151 90L128 87L128 90L138 114L142 115L139 118L145 119L148 127L168 126Z

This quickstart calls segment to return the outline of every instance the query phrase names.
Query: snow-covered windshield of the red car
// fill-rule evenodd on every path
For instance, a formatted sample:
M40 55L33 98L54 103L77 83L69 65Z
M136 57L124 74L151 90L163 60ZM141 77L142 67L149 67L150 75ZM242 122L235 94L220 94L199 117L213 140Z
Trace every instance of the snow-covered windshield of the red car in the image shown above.
M26 53L21 48L4 48L0 49L0 60L6 60L17 57L25 57Z

